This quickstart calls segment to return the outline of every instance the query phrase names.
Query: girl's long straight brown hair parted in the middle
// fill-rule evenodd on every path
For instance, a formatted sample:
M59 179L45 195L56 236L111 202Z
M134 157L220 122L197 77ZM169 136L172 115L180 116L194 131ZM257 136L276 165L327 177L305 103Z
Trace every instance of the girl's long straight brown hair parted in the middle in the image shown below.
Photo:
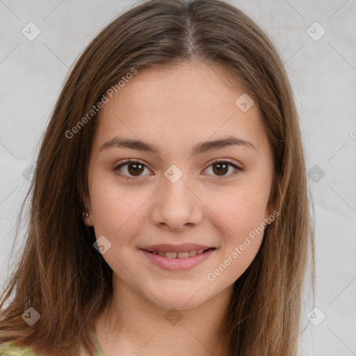
M189 60L232 73L258 104L273 149L270 202L280 215L234 283L221 325L229 356L298 355L309 257L314 296L314 221L298 113L268 36L219 0L141 3L108 24L76 60L26 195L26 243L1 295L0 343L13 341L42 355L78 355L81 346L95 353L94 321L110 301L112 270L93 248L94 230L81 216L96 126L90 111L133 69ZM30 305L40 314L32 326L22 318Z

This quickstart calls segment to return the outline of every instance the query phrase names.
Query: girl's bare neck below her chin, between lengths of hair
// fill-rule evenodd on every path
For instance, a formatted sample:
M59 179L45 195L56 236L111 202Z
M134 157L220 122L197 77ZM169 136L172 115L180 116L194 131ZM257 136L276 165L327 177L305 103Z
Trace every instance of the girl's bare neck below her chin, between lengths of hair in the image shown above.
M227 340L219 338L220 325L231 297L232 286L191 309L164 309L113 275L113 296L95 330L106 356L225 356Z

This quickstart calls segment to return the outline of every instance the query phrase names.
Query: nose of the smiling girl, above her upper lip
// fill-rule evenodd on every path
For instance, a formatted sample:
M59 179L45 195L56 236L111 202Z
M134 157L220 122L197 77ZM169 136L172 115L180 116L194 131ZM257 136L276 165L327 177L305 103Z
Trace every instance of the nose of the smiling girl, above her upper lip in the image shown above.
M184 174L175 183L163 177L150 209L154 225L177 232L202 221L204 204L187 176Z

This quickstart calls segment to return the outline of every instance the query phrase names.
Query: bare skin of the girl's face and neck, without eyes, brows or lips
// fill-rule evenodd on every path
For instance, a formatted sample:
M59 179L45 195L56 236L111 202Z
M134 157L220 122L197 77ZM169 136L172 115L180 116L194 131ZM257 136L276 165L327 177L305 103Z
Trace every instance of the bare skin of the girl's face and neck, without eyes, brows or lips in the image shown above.
M207 274L272 213L273 156L256 102L241 111L235 101L245 90L227 86L224 74L229 77L223 68L200 63L138 70L99 112L83 200L86 224L111 242L103 257L113 270L113 299L95 324L106 356L227 355L227 344L216 339L218 326L263 234L250 239L216 280ZM232 135L256 149L234 145L191 154L197 143ZM120 147L99 152L114 136L157 145L161 153ZM144 167L136 175L130 165L115 171L125 159L140 159ZM233 175L229 165L221 178L215 159L230 159L243 170ZM174 184L164 175L172 164L183 172ZM186 242L217 250L183 271L155 266L139 250ZM170 309L181 316L175 325L165 318Z

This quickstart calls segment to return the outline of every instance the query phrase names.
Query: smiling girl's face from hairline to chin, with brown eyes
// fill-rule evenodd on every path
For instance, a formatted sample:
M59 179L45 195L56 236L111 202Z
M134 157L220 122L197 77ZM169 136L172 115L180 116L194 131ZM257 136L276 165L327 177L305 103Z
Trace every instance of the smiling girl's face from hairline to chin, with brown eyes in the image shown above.
M273 156L259 108L236 104L245 91L223 77L223 68L192 63L138 70L95 119L86 224L104 245L114 289L166 309L231 290L272 213Z

